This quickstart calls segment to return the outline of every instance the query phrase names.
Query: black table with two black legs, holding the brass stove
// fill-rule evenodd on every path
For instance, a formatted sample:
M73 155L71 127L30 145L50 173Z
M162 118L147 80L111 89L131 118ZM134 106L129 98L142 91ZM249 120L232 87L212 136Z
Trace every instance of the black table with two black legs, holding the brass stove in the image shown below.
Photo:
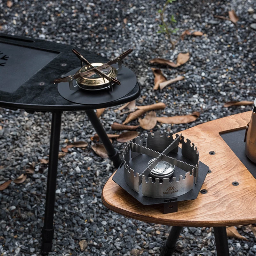
M60 96L55 78L79 67L79 60L71 52L73 46L57 44L28 37L0 34L0 107L52 112L49 166L46 188L44 227L42 230L42 252L52 250L53 215L58 168L61 113L85 110L89 120L102 140L109 158L115 167L121 160L100 124L94 109L120 105L135 100L140 95L140 86L116 100L93 104L76 104ZM107 62L106 58L79 49L89 62Z

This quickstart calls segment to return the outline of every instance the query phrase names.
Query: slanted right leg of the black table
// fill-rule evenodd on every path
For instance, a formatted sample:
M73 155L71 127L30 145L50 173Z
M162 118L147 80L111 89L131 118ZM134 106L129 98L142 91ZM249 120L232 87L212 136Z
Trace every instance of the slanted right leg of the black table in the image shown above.
M107 133L102 127L96 113L94 112L94 110L86 110L85 113L88 116L89 120L91 121L95 131L98 133L100 140L104 144L104 147L108 152L109 159L113 161L114 166L118 168L122 161L119 155L117 154L116 149L113 147L112 143L110 142L107 136Z

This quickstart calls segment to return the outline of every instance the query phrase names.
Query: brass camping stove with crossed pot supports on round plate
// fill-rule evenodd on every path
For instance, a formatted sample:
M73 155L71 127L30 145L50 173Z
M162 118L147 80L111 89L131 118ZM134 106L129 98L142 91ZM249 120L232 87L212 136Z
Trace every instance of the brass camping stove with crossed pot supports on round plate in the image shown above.
M81 68L75 75L55 79L54 84L68 82L69 89L73 91L76 90L78 86L81 89L89 91L107 89L112 92L113 84L121 84L120 81L116 79L117 73L122 69L122 60L132 52L132 49L123 52L117 58L107 63L90 63L76 49L72 49L72 52L75 53L76 57L80 60ZM118 63L118 68L111 66L115 63ZM75 84L73 83L74 81L76 82Z

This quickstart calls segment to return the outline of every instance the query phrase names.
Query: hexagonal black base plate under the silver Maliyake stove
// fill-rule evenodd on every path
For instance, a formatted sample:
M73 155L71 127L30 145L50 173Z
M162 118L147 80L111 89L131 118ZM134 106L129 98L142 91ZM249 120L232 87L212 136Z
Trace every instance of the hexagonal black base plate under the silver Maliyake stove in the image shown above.
M179 148L179 152L178 153L170 153L168 154L168 156L172 156L176 159L179 159L183 162L186 162L188 164L192 164L191 161L189 161L186 157L182 156L181 154L181 148ZM147 156L144 154L140 154L139 156L135 157L132 159L130 159L130 167L133 168L133 165L136 166L136 168L133 168L133 170L136 170L136 172L138 172L137 170L141 170L141 172L143 172L148 164L148 162L152 159L153 157L151 156ZM180 173L181 170L179 170L179 168L177 168L177 166L175 167L175 172ZM181 196L177 196L177 197L173 197L170 200L168 200L168 198L152 198L152 197L148 197L148 196L143 196L142 195L142 189L140 186L140 191L139 193L135 192L134 190L132 190L127 183L124 180L124 165L122 164L121 167L119 167L115 173L115 175L113 176L112 180L115 181L120 187L122 187L126 192L128 192L131 196L133 196L135 199L137 199L141 204L144 205L150 205L150 204L163 204L165 202L171 201L171 202L180 202L180 201L187 201L187 200L193 200L196 199L196 197L198 196L200 189L204 183L205 177L207 175L209 171L209 167L207 165L205 165L202 162L199 162L199 168L198 168L198 180L196 185L194 186L193 189L191 189L188 193L181 195ZM175 176L176 174L173 174L173 176ZM139 172L140 173L140 172ZM185 173L183 171L183 173ZM176 176L177 177L177 176Z

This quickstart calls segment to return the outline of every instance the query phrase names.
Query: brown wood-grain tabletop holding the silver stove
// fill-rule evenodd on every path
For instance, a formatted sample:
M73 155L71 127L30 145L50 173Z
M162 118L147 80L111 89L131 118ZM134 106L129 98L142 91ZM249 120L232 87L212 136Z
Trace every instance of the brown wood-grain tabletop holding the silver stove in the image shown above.
M220 133L242 129L250 121L251 111L224 117L182 131L198 148L200 161L208 165L207 174L196 200L178 203L178 212L163 214L163 205L140 204L112 176L102 191L103 204L124 216L156 224L208 227L256 223L256 180L240 162ZM243 150L243 148L241 149ZM215 155L210 155L215 151ZM232 182L238 181L238 186Z

